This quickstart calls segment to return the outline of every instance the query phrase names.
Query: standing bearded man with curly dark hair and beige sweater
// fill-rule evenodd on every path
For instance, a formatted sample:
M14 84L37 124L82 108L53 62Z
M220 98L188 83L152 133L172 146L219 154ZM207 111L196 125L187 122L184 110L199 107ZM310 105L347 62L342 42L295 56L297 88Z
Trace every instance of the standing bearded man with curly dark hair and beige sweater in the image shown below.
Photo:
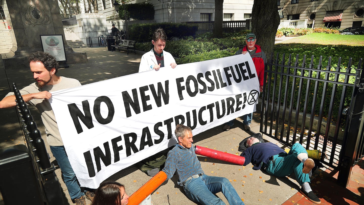
M73 78L57 76L58 62L55 57L43 51L32 53L28 57L30 70L36 82L20 90L23 100L28 105L35 106L46 127L47 142L50 145L53 156L56 158L62 171L64 183L68 193L76 205L86 205L85 193L81 192L76 175L64 149L62 138L52 107L48 99L52 97L50 92L81 86L80 82ZM8 93L0 101L0 108L13 108L16 106L15 95ZM87 191L86 197L92 201L94 193Z

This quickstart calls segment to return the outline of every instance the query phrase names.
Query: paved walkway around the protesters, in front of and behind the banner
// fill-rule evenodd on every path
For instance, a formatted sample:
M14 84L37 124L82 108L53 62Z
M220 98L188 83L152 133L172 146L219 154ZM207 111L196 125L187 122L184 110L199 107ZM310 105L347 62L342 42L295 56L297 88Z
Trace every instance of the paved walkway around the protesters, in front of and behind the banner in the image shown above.
M77 52L86 52L88 57L87 63L70 64L69 68L59 69L59 76L71 77L78 79L81 84L102 81L110 78L124 76L137 73L141 55L128 54L124 51L107 51L104 47L80 48L74 49ZM0 98L10 92L12 82L17 84L18 88L23 88L33 82L32 73L29 69L4 69L0 62ZM23 134L19 126L15 109L0 110L0 148L13 146L15 144L24 144ZM44 135L44 126L41 123L40 116L35 109L31 109L36 123ZM194 145L208 147L230 154L239 155L239 143L246 137L259 132L259 115L254 114L252 121L252 131L244 131L244 126L238 118L234 127L229 131L223 131L222 125L209 129L201 134L194 136ZM265 137L265 140L281 144L273 139ZM55 158L52 156L49 146L46 145L50 153L51 162L56 164ZM237 190L240 197L246 204L283 204L290 197L297 193L300 186L291 177L276 178L260 170L252 169L251 164L248 166L238 166L220 160L198 157L202 169L208 175L226 177L231 180L232 185ZM64 192L64 204L72 204L67 188L61 177L58 166L56 174L60 179L60 184ZM320 174L322 170L316 170L315 175ZM21 178L21 176L19 176ZM139 189L151 177L142 173L136 166L128 167L118 173L112 175L109 180L118 181L126 186L129 195ZM155 205L177 205L195 204L190 201L184 194L184 191L177 185L178 177L175 175L171 180L166 181L152 194ZM21 190L21 188L19 189ZM225 197L221 193L217 194L224 202L227 203ZM167 200L169 197L169 202ZM0 204L1 204L0 200ZM87 200L88 204L91 201Z

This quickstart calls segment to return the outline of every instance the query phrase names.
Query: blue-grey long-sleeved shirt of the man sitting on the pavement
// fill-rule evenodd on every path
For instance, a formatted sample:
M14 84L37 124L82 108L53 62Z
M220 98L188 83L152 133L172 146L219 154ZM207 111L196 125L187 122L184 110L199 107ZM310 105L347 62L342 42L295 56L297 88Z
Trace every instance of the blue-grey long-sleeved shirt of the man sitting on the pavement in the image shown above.
M173 177L177 170L178 184L182 186L187 178L195 174L203 173L201 163L195 154L195 147L186 149L179 144L176 144L171 151L168 152L167 160L163 171L167 174L167 179Z

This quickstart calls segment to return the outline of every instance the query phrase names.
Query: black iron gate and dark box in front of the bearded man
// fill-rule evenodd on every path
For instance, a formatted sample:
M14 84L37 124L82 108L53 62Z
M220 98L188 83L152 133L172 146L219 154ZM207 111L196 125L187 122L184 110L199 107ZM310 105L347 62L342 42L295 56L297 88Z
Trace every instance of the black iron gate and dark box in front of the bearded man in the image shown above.
M0 191L5 204L63 205L62 190L48 152L29 112L13 83L23 144L0 149Z

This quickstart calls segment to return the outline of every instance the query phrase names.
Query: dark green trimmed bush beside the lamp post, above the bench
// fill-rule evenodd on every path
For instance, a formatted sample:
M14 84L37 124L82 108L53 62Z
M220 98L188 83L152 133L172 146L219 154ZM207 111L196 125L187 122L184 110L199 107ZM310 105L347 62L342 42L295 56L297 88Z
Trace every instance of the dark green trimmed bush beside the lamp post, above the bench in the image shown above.
M124 4L119 6L119 17L126 20L124 16L124 6L127 20L154 20L154 6L151 3Z

